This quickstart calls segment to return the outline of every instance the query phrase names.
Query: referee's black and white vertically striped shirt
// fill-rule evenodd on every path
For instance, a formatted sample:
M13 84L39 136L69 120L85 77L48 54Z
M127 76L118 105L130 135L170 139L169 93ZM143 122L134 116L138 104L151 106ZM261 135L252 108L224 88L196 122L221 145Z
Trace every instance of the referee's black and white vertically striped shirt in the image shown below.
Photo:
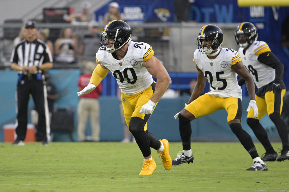
M31 67L40 66L47 62L53 62L51 52L47 44L39 39L29 42L26 39L20 41L13 49L11 63L17 63L19 66ZM18 71L25 74L26 72Z

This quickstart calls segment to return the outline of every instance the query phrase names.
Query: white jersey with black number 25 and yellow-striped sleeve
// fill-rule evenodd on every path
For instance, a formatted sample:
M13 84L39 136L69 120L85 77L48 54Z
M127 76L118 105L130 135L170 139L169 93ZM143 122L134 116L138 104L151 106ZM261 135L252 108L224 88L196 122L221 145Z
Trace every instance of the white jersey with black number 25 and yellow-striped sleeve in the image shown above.
M213 60L196 49L194 62L210 82L211 91L206 94L214 97L236 97L241 99L242 89L238 85L238 75L231 69L232 65L240 61L241 58L238 52L226 47L223 47L219 55Z

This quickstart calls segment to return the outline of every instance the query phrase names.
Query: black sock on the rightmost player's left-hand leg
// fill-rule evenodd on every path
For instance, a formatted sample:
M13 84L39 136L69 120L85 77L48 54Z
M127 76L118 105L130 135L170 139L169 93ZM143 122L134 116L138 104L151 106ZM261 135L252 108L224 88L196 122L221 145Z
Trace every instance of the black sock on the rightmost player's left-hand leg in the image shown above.
M269 141L268 134L266 130L263 128L263 126L260 124L259 120L253 119L253 118L247 118L247 124L253 130L254 134L256 135L260 143L264 146L266 152L275 153L275 150L273 149Z

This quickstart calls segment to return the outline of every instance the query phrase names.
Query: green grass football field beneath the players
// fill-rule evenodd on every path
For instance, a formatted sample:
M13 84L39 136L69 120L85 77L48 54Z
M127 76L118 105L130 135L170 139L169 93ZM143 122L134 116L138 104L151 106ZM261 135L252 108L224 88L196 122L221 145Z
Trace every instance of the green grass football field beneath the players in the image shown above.
M136 143L0 143L0 191L289 191L289 161L268 171L245 171L253 161L240 143L192 143L193 164L140 176ZM281 143L273 143L277 150ZM256 143L259 155L264 153ZM181 143L169 143L172 158Z

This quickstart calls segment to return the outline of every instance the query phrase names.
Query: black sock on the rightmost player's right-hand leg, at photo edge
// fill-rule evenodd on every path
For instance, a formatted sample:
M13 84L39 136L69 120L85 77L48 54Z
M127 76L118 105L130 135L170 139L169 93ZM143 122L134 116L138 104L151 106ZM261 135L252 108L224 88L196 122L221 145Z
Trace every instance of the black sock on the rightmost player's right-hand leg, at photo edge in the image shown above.
M289 150L288 129L284 121L281 119L280 113L274 112L270 114L269 117L277 128L278 134L282 141L283 150Z

